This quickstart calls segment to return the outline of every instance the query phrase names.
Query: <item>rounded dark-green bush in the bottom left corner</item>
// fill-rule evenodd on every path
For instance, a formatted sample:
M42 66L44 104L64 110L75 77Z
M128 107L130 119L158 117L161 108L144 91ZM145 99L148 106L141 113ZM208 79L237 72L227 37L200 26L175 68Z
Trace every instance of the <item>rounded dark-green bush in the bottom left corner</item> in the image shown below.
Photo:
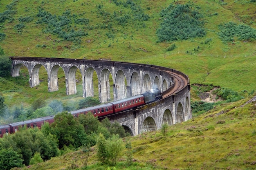
M10 170L22 166L22 157L11 148L0 150L0 170Z

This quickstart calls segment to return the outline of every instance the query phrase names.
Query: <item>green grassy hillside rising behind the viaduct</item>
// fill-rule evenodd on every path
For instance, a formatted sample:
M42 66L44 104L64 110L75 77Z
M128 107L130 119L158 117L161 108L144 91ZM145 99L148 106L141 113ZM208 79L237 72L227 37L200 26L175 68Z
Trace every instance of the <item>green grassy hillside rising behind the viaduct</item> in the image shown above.
M206 34L159 42L156 31L166 20L160 15L161 11L181 4L189 4L199 13ZM240 40L240 35L234 35L233 41L223 41L219 25L246 24L255 33L255 5L250 0L0 0L0 46L7 56L106 59L161 65L186 73L191 84L252 91L256 82L255 38ZM176 48L168 51L172 44ZM24 105L39 96L46 100L70 99L65 96L64 79L59 82L60 91L47 93L45 70L41 68L40 72L40 86L32 89L11 78L7 80L9 88L5 89L5 81L0 81L6 103L11 106L19 103L17 97ZM24 75L27 75L26 69ZM63 75L59 75L61 77ZM76 96L81 97L79 93L72 97Z

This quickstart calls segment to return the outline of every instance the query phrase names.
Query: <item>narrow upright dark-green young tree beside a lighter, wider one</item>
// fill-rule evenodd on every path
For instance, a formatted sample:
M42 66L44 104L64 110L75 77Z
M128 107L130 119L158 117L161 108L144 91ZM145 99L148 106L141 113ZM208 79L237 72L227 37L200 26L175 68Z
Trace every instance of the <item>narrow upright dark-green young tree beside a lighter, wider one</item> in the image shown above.
M106 139L103 134L99 134L97 138L97 159L100 163L107 164L108 163L108 149L106 145Z

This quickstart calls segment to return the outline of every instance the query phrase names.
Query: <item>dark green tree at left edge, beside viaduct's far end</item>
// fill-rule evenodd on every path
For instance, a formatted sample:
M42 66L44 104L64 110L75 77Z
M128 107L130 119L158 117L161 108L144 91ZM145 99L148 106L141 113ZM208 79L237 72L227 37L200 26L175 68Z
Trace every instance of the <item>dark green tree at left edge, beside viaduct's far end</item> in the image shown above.
M12 62L9 57L0 55L0 77L11 75Z

